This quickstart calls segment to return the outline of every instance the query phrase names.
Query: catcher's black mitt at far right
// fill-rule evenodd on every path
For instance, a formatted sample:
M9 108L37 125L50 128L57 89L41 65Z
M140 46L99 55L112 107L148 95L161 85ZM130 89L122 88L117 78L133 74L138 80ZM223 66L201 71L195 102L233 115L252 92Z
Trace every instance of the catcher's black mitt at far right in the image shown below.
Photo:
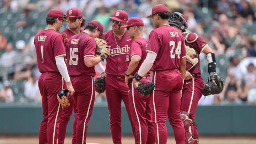
M212 81L213 79L215 80L216 85ZM219 94L220 92L222 92L224 88L224 82L225 82L224 79L219 77L217 74L210 75L207 80L207 83L204 85L203 95L208 96L208 95Z

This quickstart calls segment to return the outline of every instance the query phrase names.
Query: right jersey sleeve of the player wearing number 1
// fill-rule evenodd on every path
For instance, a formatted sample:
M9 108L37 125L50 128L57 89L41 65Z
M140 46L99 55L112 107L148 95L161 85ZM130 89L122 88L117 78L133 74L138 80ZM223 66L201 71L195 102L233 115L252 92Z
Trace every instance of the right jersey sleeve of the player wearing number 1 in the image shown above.
M56 36L53 39L53 53L54 57L62 57L66 55L63 37L61 35Z

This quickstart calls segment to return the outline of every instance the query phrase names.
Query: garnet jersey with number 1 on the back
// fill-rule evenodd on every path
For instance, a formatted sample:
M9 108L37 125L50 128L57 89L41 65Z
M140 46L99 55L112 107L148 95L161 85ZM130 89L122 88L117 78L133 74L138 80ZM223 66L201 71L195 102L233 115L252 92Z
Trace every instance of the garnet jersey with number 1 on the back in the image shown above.
M34 39L38 69L43 72L59 72L55 58L65 56L64 41L61 34L53 29L42 30Z

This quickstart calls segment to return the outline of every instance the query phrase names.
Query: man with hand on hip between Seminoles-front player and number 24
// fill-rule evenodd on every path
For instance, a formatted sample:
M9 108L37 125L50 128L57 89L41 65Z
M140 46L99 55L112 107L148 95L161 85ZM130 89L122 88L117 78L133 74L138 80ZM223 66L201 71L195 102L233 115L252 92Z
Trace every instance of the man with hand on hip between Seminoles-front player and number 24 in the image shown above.
M148 41L143 38L142 19L138 17L129 18L127 24L122 27L127 28L129 38L133 38L133 43L126 56L125 82L128 87L130 115L132 118L133 127L135 129L135 143L136 144L153 144L155 143L154 126L151 123L151 107L150 95L142 96L139 92L134 90L132 78L136 71L139 70L140 65L146 58L146 47ZM149 78L149 71L144 75L141 82L151 81Z

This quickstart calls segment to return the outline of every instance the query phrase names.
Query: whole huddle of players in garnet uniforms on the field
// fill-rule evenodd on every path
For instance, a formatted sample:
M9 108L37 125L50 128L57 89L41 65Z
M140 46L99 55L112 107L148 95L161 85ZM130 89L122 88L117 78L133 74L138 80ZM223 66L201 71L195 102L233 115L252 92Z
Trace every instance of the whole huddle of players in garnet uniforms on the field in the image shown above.
M194 122L197 103L202 94L218 94L223 89L214 52L196 33L185 33L188 23L181 13L170 14L165 5L158 4L148 18L155 29L147 41L142 19L129 18L124 10L114 12L112 30L105 33L99 21L85 23L79 9L71 8L66 15L58 9L48 12L46 29L34 39L42 73L38 80L43 107L39 144L64 144L73 109L72 144L85 144L95 91L106 91L114 144L122 143L122 100L136 144L166 144L167 116L176 144L199 143ZM64 21L68 28L57 33ZM200 53L208 60L206 85ZM105 59L106 70L101 65ZM101 73L96 81L95 66Z

